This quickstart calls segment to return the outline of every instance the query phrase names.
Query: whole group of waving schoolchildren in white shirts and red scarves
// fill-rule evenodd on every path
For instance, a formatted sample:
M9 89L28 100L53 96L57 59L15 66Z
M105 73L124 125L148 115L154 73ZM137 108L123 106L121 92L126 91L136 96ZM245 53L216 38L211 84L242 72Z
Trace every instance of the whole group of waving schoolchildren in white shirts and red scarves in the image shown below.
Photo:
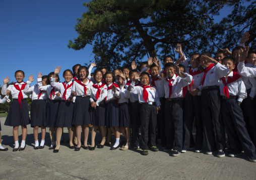
M149 149L159 150L157 139L160 138L163 151L178 156L188 149L202 152L205 137L206 154L217 152L218 157L223 157L227 152L230 157L236 157L244 151L250 161L256 162L256 121L253 118L256 53L249 52L244 42L240 42L232 53L227 50L217 52L215 59L211 53L203 52L191 54L189 60L177 44L175 51L180 58L173 62L171 56L166 56L164 69L157 58L150 57L148 62L141 64L141 72L132 62L132 70L125 67L110 72L106 67L100 67L92 77L95 63L89 68L77 64L73 71L63 72L65 82L62 83L58 76L60 67L48 76L39 72L34 86L30 86L33 75L25 83L24 72L18 70L14 85L7 87L10 79L4 79L2 94L6 96L1 100L1 103L5 102L12 94L13 102L5 125L13 126L13 151L25 149L27 125L31 124L34 149L44 148L47 126L52 142L49 149L54 149L53 152L59 151L63 127L68 128L70 147L75 151L80 150L82 141L85 149L94 150L98 128L102 137L98 148L109 145L111 150L118 147L127 150L133 144L133 148L141 147L142 154L148 155ZM26 100L29 94L32 94L30 117ZM93 125L91 146L87 144L89 124ZM19 146L20 125L22 142ZM40 145L39 127L42 132ZM126 143L120 143L120 132ZM112 133L114 144L111 144ZM77 145L73 142L74 137ZM8 150L0 145L1 149Z

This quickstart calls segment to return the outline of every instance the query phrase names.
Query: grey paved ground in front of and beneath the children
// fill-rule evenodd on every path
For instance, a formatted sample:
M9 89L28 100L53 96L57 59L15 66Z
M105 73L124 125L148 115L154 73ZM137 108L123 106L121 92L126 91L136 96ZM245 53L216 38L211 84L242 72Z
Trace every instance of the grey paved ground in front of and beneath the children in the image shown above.
M141 149L109 150L106 146L94 151L82 148L74 151L67 142L60 146L58 153L53 153L48 150L48 128L44 149L33 149L33 128L28 126L26 149L13 152L12 127L4 125L4 117L0 120L2 144L9 148L0 152L0 179L256 179L256 163L249 162L244 154L237 158L218 158L216 154L204 154L204 150L204 153L187 151L172 157L160 148L143 156ZM96 138L100 140L99 136ZM65 139L68 139L67 128Z

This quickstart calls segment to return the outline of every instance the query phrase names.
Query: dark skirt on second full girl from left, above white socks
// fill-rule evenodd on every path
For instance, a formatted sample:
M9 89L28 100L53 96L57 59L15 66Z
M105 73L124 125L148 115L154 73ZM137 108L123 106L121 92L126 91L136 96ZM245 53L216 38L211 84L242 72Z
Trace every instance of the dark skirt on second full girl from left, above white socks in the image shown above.
M33 100L30 108L31 127L46 126L46 101Z

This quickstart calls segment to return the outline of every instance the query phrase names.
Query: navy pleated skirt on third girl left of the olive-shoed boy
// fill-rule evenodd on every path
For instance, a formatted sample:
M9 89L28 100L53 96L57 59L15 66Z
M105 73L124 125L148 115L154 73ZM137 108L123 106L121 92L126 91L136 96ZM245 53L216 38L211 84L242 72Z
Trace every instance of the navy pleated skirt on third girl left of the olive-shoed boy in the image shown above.
M105 100L101 101L96 109L92 108L92 125L93 126L105 126L106 125L106 104Z

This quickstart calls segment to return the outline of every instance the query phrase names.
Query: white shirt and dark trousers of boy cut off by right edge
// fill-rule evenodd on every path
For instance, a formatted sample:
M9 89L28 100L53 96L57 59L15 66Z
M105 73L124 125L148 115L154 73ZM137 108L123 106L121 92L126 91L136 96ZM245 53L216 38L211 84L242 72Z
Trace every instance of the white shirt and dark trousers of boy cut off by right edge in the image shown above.
M250 135L250 138L256 145L256 121L254 118L255 111L255 94L256 94L256 66L247 63L244 65L244 62L239 62L237 66L238 72L241 74L242 78L247 77L251 83L251 89L247 89L247 98L241 103L241 108L243 110L244 121ZM251 99L253 98L253 100Z

